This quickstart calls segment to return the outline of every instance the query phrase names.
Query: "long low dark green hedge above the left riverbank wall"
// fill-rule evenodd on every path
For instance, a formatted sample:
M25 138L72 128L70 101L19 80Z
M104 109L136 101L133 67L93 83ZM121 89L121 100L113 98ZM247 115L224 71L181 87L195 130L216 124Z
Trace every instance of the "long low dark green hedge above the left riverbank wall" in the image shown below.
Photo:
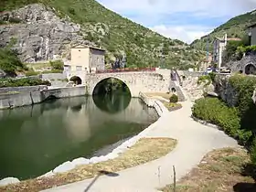
M35 86L35 85L50 86L50 82L48 80L29 79L29 78L26 78L26 79L0 79L0 88Z

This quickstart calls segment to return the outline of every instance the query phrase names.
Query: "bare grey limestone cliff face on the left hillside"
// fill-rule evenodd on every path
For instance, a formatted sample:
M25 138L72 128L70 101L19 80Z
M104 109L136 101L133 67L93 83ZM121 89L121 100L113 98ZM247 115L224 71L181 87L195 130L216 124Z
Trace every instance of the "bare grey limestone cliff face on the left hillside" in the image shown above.
M80 25L59 18L53 9L45 5L33 4L23 8L0 13L0 19L16 24L0 26L0 47L8 44L12 37L20 59L24 62L69 58L71 44L92 45L80 35Z

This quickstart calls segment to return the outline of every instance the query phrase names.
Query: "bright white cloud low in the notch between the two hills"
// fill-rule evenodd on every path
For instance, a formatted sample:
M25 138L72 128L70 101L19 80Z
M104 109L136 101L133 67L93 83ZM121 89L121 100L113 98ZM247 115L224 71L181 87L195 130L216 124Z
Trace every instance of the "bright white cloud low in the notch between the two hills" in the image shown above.
M183 40L190 44L193 40L207 35L211 32L212 27L200 27L200 26L171 26L166 27L164 25L151 27L152 30L159 34Z

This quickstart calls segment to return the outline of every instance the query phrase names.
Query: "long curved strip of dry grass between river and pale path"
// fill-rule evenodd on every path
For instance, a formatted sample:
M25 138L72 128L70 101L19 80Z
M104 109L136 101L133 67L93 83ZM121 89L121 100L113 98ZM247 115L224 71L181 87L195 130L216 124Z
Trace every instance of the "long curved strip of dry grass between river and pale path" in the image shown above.
M0 191L39 191L91 178L97 176L100 171L121 171L167 155L175 146L176 140L174 139L143 138L115 159L94 165L80 165L67 173L56 176L35 178L22 181L16 185L0 187Z

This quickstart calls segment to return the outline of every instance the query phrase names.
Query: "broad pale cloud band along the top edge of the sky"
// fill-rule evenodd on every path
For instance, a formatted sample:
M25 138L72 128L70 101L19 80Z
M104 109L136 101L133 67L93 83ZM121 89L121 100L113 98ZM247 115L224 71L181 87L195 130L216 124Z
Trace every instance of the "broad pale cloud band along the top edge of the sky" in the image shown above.
M190 12L208 16L236 16L256 8L256 0L98 0L118 13L138 15Z

